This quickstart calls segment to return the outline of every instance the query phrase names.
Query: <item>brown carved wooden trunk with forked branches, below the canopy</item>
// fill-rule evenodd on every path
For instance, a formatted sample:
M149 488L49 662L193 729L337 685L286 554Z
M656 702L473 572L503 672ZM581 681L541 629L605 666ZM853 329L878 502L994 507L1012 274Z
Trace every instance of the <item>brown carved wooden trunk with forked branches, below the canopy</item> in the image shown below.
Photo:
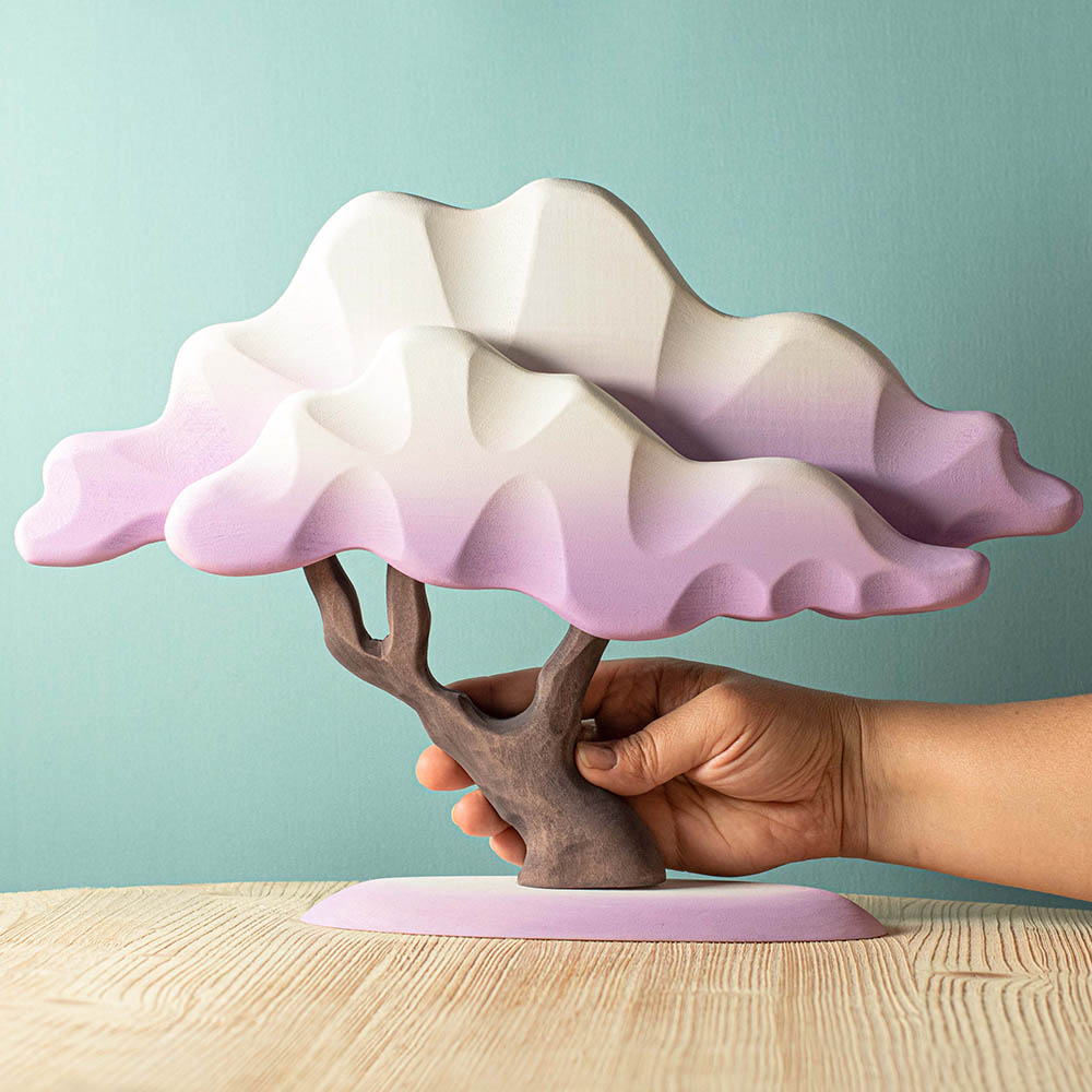
M428 669L431 616L424 584L388 567L390 632L376 640L336 557L304 571L334 658L412 707L429 738L523 835L527 857L520 883L628 888L664 879L649 829L624 799L586 782L573 762L584 693L605 640L570 626L543 667L530 707L494 717L466 695L441 686Z

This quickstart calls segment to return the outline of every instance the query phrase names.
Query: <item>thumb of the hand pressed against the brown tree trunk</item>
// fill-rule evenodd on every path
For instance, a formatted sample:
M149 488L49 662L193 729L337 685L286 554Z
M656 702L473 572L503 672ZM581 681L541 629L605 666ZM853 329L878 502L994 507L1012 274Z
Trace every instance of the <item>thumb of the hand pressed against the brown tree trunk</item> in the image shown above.
M619 796L648 793L725 747L724 702L710 688L621 739L577 744L577 769Z

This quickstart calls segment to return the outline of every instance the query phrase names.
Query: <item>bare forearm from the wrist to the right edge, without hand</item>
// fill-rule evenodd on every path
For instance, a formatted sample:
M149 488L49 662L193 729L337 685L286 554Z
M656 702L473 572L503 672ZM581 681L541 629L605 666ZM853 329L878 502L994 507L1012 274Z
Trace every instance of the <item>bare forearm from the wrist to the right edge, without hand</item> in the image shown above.
M860 709L865 856L1092 899L1092 696Z

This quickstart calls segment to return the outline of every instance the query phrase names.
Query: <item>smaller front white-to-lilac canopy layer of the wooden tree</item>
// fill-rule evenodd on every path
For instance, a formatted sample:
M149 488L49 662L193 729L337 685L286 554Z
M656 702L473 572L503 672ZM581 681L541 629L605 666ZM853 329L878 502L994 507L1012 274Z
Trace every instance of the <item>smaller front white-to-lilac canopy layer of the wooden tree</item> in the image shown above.
M286 399L246 454L182 490L166 536L228 575L364 548L628 640L717 615L954 606L988 574L981 554L902 535L827 470L686 459L586 380L446 327L396 331L354 383Z

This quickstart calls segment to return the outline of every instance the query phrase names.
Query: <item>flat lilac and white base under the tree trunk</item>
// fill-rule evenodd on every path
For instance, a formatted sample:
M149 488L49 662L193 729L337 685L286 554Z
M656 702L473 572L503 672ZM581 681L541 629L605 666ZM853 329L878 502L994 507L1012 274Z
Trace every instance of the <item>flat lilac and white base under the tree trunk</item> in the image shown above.
M354 883L302 916L372 933L541 940L860 940L887 929L844 895L738 880L640 890L520 887L514 876L407 876Z

